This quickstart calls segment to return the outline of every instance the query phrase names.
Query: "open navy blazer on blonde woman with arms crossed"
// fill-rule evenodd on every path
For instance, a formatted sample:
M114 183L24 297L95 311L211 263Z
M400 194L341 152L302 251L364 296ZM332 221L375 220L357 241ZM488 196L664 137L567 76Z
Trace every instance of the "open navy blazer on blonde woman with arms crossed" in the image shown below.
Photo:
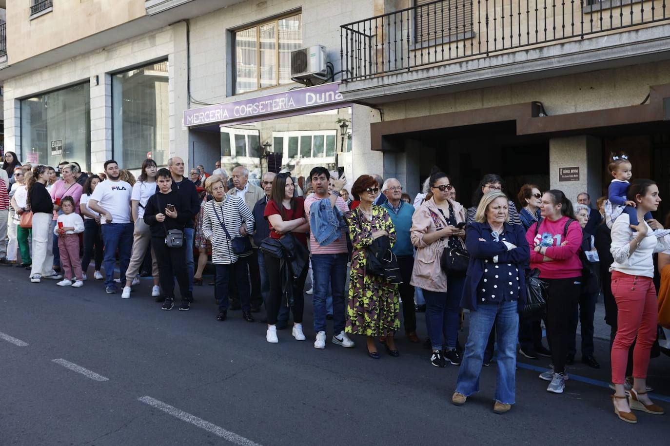
M517 248L507 250L507 246L502 241L494 242L491 235L491 227L488 222L470 223L466 228L465 244L470 254L470 264L466 274L466 282L463 287L463 297L460 306L477 311L477 285L479 285L484 275L484 261L491 261L494 256L498 256L498 263L512 263L519 268L519 309L526 303L526 275L531 260L531 251L526 240L526 231L520 224L505 223L505 241L515 244ZM488 240L482 242L484 238Z

